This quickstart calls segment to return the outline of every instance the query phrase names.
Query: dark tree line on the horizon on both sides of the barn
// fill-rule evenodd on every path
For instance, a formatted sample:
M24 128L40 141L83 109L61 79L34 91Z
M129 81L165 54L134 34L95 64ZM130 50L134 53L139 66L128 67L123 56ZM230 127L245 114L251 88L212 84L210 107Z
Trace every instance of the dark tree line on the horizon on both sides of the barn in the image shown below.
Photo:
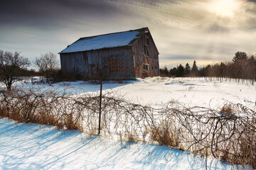
M18 81L19 77L42 76L61 79L57 55L53 52L41 54L32 62L38 68L38 72L28 67L31 62L21 56L21 52L4 52L0 50L0 83L11 89L11 85ZM248 55L246 52L236 52L231 62L220 62L208 64L198 68L196 60L192 67L187 63L185 67L179 64L172 69L160 69L161 77L218 77L220 81L224 78L249 79L252 84L256 80L256 55Z

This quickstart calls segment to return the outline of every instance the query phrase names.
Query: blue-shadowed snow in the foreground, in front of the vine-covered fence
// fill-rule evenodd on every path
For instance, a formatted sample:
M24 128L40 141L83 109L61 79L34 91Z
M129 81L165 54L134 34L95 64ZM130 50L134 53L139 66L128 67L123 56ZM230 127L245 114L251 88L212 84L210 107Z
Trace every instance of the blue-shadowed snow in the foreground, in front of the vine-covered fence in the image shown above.
M0 169L205 169L206 158L169 147L88 137L0 119ZM208 169L232 169L207 159Z

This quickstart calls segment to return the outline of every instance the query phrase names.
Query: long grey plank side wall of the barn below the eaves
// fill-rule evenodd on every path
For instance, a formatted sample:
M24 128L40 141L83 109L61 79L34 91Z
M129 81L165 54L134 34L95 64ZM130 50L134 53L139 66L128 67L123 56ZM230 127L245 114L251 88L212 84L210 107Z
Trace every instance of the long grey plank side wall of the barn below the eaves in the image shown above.
M64 74L81 74L86 79L97 79L97 68L105 79L135 78L132 47L60 54L60 62Z

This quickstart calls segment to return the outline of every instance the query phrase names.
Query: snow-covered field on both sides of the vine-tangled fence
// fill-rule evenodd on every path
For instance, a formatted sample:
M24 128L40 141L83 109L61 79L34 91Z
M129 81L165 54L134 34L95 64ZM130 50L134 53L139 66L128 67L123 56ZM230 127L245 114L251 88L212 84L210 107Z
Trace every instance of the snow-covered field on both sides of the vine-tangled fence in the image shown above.
M76 94L98 91L100 85L84 81L46 84L18 83L19 87L70 88ZM71 88L73 87L73 88ZM227 102L242 103L255 111L256 86L217 79L137 79L119 84L104 82L103 93L112 91L133 103L161 108L167 101L185 106L219 109ZM0 169L205 169L206 159L168 147L124 143L88 137L78 131L58 131L45 125L26 125L0 119ZM125 145L122 146L122 145ZM216 159L208 169L231 169Z

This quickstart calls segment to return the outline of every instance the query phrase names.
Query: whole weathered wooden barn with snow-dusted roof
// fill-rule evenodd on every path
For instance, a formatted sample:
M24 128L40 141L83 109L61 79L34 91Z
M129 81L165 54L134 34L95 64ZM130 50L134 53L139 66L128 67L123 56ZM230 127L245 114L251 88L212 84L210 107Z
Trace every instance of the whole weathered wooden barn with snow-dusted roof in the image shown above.
M159 76L159 52L149 28L80 38L59 52L63 74L121 80Z

